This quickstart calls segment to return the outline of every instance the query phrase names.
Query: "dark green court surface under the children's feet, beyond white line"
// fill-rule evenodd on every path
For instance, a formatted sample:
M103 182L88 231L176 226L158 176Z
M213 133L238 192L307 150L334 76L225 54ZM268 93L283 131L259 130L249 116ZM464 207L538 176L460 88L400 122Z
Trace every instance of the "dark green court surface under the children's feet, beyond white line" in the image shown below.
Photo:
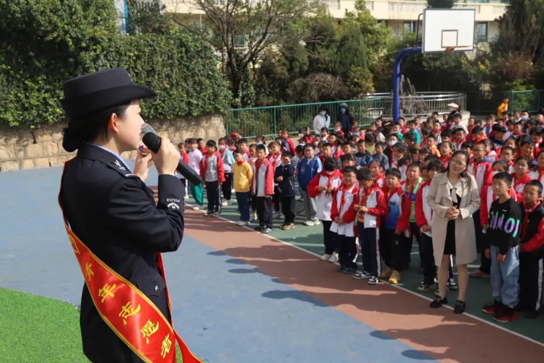
M296 198L298 199L299 197L297 196ZM240 215L237 210L238 206L236 204L236 196L234 195L234 193L232 195L231 201L233 201L232 205L222 207L221 217L232 222L237 222ZM193 205L194 200L192 198L186 199L186 203L189 205ZM204 196L204 205L207 205L206 193ZM296 210L300 209L302 209L302 203L296 202ZM283 224L283 220L275 219L274 231L270 233L270 236L280 241L292 244L301 249L310 251L311 253L317 254L319 256L322 255L324 253L323 225L320 224L317 226L305 226L302 224L302 222L304 222L304 218L297 215L295 221L295 229L284 231L279 228L279 226ZM257 225L258 222L251 221L250 229L253 229L253 227ZM413 242L411 257L412 261L410 263L410 268L404 270L401 273L402 279L398 286L401 288L405 288L412 293L418 294L419 296L422 296L426 299L429 299L430 301L430 299L434 299L434 291L419 292L417 290L417 287L419 286L419 280L423 278L423 275L418 273L419 253L417 242L415 241L415 239ZM288 258L288 256L286 256L286 258ZM469 270L478 268L480 261L479 258L480 257L478 255L478 259L475 260L473 264L468 265ZM358 263L361 264L360 257L358 259ZM333 267L331 266L331 263L323 262L323 268L329 268L331 269L331 273L333 273ZM346 278L351 279L351 276L346 276ZM364 282L361 281L361 284L363 283ZM455 301L457 300L457 292L450 291L448 293L448 300L448 305L453 307L455 305ZM430 309L429 301L424 299L421 300L422 313L424 313L426 309ZM544 326L544 314L540 315L540 317L537 319L527 319L523 317L523 313L520 313L518 314L518 319L516 321L512 321L509 323L497 323L492 319L491 315L488 315L480 310L481 306L491 301L491 284L489 279L469 279L468 292L466 297L466 313L485 322L496 325L497 327L500 327L502 329L508 329L514 334L523 335L537 342L544 343L544 329L542 329L542 327Z

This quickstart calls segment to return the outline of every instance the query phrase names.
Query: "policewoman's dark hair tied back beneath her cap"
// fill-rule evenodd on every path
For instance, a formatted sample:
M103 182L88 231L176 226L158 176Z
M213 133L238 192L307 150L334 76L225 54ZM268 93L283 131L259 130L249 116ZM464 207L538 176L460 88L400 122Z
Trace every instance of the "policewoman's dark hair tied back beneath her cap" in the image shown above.
M98 136L107 138L110 116L114 113L122 119L131 103L132 101L71 118L68 121L68 126L63 130L64 150L68 152L75 151L86 141L95 140Z

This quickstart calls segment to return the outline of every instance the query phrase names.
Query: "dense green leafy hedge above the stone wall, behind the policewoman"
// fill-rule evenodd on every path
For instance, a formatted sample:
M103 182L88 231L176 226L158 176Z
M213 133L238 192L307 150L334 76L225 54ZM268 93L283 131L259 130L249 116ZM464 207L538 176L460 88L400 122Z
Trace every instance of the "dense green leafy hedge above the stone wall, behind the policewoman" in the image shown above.
M211 47L179 29L119 34L112 0L0 0L0 14L0 124L63 120L63 82L109 67L156 91L143 103L147 118L222 112L230 103Z

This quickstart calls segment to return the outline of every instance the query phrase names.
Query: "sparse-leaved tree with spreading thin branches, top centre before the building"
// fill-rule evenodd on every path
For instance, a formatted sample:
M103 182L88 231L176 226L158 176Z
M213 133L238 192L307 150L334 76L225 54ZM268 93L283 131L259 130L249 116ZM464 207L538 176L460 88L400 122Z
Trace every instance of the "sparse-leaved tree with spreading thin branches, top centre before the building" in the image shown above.
M241 102L241 86L249 67L255 66L265 50L289 35L289 24L317 9L319 0L194 0L195 9L206 14L200 27L173 14L178 24L210 42L226 56L226 75L234 99ZM174 8L175 9L175 8ZM219 37L219 42L212 35ZM240 47L240 43L244 43ZM242 49L243 48L243 49Z

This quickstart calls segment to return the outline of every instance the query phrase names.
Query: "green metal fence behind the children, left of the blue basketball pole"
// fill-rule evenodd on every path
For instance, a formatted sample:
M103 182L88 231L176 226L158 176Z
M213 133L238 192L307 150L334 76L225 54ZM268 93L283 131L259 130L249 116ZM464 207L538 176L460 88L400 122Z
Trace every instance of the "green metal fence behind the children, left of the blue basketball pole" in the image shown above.
M332 127L339 112L339 104L343 102L348 104L349 112L359 125L368 125L381 115L381 97L351 101L235 108L227 110L225 128L227 134L238 132L246 138L258 135L276 135L280 128L288 128L289 132L297 133L302 127L313 127L313 119L320 106L329 109Z

